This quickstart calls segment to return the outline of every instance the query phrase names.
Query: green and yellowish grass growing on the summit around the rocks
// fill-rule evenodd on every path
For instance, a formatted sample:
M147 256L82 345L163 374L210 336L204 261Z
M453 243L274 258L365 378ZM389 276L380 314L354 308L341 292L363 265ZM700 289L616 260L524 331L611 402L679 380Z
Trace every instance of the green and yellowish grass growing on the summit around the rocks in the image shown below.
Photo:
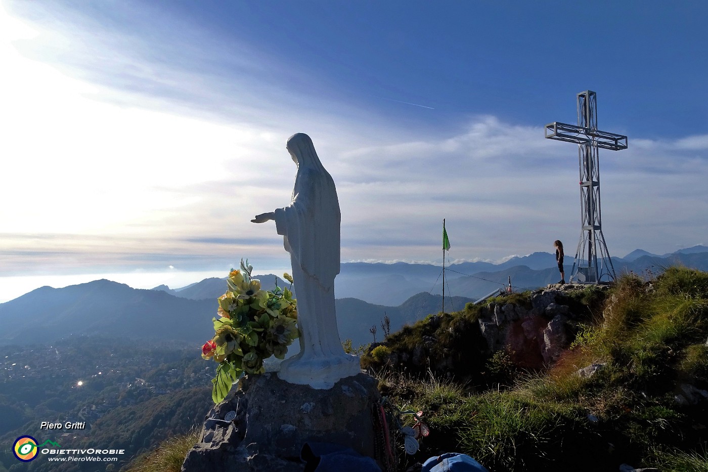
M547 372L518 371L501 353L480 359L479 351L470 350L466 336L474 336L483 308L442 317L439 325L423 320L391 335L388 351L379 349L378 360L367 356L363 362L379 367L384 395L402 409L423 410L431 429L421 451L401 465L461 451L493 472L595 472L617 470L620 463L707 471L706 402L679 405L674 397L682 384L708 388L708 274L670 268L650 282L624 276L603 311L602 301L592 289L571 300L574 308L587 308L588 323L573 349ZM411 349L423 335L437 335L433 356L466 353L466 377L476 371L481 381L461 385L432 372L381 368L388 352ZM593 362L606 366L591 378L576 376ZM131 470L177 471L166 463L140 468L165 449L183 456L193 437L171 441L179 445L163 444Z

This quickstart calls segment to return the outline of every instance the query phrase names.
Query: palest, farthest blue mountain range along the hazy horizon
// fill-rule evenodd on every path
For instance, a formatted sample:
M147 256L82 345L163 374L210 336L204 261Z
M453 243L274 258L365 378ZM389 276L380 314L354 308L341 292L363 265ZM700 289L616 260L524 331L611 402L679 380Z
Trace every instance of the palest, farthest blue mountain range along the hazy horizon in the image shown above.
M571 272L572 261L571 257L566 257L568 263L565 264L566 274ZM643 249L635 249L624 258L612 257L612 264L615 266L617 275L625 272L634 274L642 274L645 271L656 272L672 264L708 270L708 247L696 245L663 256ZM559 276L554 254L548 252L534 252L523 257L512 257L501 264L462 262L450 264L446 269L445 280L450 288L448 294L473 299L486 295L494 288L508 285L509 276L516 290L555 283ZM399 306L417 293L428 292L431 295L442 293L441 273L442 267L433 264L343 262L341 273L335 279L336 298L358 298L374 305ZM255 277L261 279L261 284L266 290L272 290L275 283L270 281L275 280L278 281L279 286L289 286L289 283L274 274L260 274ZM225 278L212 277L179 288L161 285L152 290L164 291L180 298L207 300L216 298L226 291L224 281ZM47 288L40 287L35 291ZM0 306L2 305L0 303Z

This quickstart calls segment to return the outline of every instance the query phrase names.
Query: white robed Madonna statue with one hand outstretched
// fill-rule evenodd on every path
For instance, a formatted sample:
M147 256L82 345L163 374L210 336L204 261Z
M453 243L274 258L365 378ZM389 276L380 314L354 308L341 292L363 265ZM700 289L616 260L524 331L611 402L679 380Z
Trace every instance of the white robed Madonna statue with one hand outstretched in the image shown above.
M308 135L292 135L287 151L297 164L290 206L251 220L275 220L290 252L297 291L300 352L280 364L278 377L312 388L331 388L341 378L360 373L358 356L342 348L334 308L341 221L337 190Z

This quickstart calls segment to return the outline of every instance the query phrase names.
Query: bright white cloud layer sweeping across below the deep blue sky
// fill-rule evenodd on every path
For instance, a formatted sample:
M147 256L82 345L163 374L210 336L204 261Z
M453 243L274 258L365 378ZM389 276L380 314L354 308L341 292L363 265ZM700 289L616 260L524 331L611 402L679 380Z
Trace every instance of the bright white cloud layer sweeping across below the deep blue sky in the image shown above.
M344 260L438 261L442 218L455 261L578 238L577 150L544 139L542 126L481 115L445 134L404 129L316 99L290 84L315 81L306 70L257 60L249 45L228 55L191 25L149 44L108 28L92 43L90 18L0 21L12 25L0 28L11 33L0 43L0 153L11 157L0 199L12 203L0 207L0 275L221 270L241 256L286 266L273 225L249 220L287 205L285 140L297 131L337 183ZM207 67L214 57L228 67ZM629 150L600 152L611 254L702 240L706 142L630 136Z

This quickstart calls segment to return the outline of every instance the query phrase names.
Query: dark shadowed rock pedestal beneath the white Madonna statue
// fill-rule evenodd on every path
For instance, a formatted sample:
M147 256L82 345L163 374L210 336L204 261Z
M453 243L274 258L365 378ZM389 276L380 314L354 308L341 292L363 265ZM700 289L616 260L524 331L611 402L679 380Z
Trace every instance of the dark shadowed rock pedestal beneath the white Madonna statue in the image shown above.
M375 457L372 405L380 398L377 381L364 373L329 390L287 383L275 373L248 376L207 414L182 472L302 472L306 442L339 444Z

